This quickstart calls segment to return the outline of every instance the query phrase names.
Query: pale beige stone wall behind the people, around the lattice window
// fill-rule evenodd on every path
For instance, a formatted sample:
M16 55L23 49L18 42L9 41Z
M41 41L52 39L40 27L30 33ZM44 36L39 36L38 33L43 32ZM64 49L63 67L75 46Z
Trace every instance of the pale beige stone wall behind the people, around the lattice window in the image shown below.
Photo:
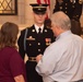
M50 1L51 1L50 5L51 9L50 15L51 15L56 0ZM33 20L32 7L29 4L35 2L36 0L17 0L17 8L19 8L17 15L3 15L3 16L0 15L0 25L9 21L19 24L20 30L31 26L34 23L34 20ZM81 25L83 26L83 14L81 16Z

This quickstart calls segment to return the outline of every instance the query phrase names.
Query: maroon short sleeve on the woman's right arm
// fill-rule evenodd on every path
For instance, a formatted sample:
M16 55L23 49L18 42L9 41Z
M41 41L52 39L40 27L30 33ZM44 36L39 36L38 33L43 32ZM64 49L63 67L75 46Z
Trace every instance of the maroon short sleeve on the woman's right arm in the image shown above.
M26 75L24 61L22 60L17 51L14 51L10 57L10 70L13 77L23 74L25 78Z

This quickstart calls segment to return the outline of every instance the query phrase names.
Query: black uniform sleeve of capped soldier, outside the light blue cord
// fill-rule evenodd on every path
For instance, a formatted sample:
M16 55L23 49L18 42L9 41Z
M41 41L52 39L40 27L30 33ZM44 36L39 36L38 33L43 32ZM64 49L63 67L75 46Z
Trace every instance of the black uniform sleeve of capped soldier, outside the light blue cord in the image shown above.
M24 35L25 35L25 31L21 32L21 35L19 37L17 40L17 45L19 45L19 52L21 55L21 57L24 59L25 56L25 50L24 50Z

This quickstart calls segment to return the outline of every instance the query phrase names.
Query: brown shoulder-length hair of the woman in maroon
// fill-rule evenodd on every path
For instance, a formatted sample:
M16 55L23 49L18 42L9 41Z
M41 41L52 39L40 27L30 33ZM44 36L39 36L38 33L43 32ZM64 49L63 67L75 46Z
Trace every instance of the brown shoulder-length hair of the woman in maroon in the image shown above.
M0 49L4 47L16 48L19 26L14 23L7 22L1 26L0 30Z

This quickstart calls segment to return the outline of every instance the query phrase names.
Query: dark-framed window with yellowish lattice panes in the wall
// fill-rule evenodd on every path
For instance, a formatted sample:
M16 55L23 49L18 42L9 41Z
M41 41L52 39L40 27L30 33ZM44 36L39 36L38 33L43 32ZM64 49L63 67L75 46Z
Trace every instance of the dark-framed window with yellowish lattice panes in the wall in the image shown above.
M0 15L17 15L17 0L0 0Z

